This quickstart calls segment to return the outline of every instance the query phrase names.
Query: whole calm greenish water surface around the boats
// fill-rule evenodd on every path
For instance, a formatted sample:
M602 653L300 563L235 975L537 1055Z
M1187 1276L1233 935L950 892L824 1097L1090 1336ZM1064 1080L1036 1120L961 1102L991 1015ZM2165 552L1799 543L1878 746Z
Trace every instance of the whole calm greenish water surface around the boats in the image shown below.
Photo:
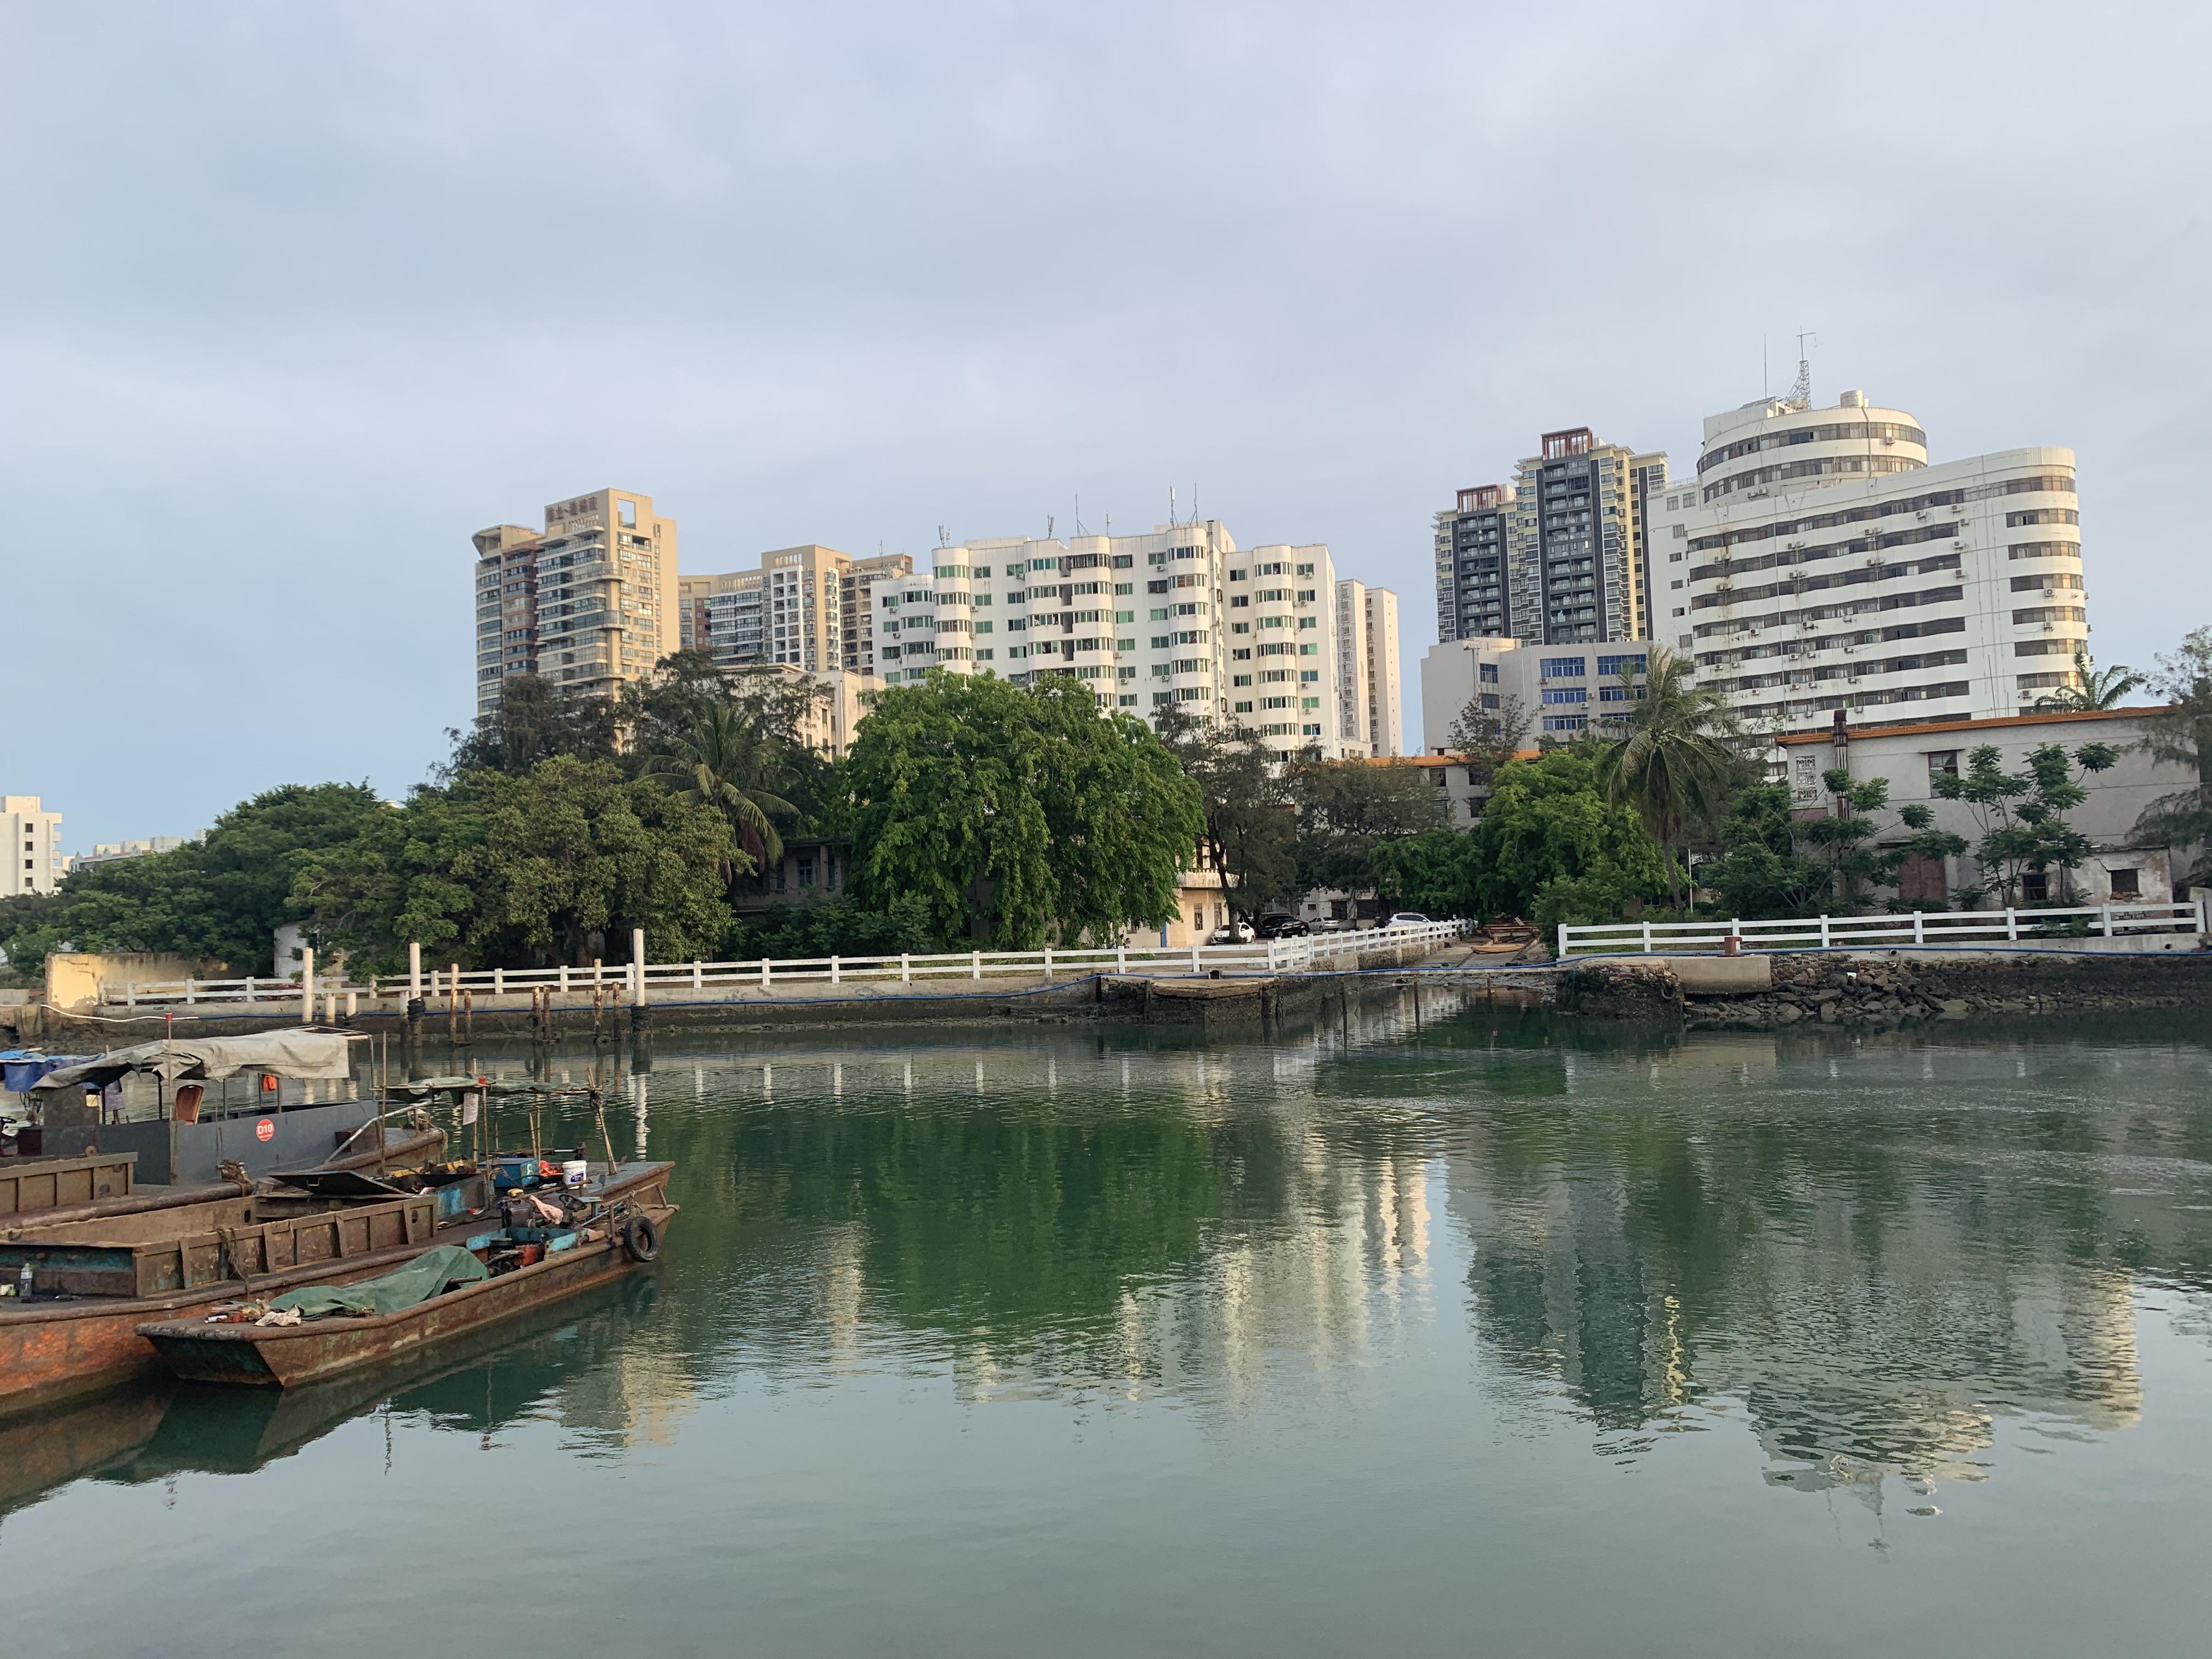
M0 1650L2212 1648L2174 1018L608 1064L679 1159L653 1276L338 1394L0 1427Z

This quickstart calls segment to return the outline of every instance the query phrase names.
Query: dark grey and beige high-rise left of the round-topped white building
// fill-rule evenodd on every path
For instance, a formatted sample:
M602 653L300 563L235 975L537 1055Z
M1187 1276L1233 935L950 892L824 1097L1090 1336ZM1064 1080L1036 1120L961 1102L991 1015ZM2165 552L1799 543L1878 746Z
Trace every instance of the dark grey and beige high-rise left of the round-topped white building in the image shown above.
M1650 624L1646 502L1666 456L1546 431L1511 484L1462 489L1436 515L1440 639L1601 644Z

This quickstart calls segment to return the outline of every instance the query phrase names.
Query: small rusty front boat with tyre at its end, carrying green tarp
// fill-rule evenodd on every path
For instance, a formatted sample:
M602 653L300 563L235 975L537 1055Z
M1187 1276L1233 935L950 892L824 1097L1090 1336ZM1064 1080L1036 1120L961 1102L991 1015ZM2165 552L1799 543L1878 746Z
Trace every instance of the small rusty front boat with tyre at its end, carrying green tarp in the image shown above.
M577 1194L588 1212L566 1228L498 1228L469 1239L493 1274L396 1312L327 1314L296 1325L161 1318L137 1327L181 1378L301 1387L358 1367L420 1354L487 1325L604 1285L659 1254L675 1217L672 1164L597 1166ZM535 1237L522 1237L535 1234ZM504 1256L504 1265L500 1259Z

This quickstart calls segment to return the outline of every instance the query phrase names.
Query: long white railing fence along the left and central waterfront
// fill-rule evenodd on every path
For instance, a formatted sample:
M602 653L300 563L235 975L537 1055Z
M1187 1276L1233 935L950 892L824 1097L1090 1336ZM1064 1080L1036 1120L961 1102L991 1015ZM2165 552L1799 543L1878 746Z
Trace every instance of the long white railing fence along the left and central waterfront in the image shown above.
M688 991L717 987L757 987L823 982L898 982L933 980L1057 980L1088 973L1298 973L1316 967L1343 967L1360 951L1402 949L1407 945L1447 945L1467 933L1467 922L1416 922L1409 927L1367 929L1349 933L1316 933L1312 938L1256 940L1252 945L1113 945L1102 949L1042 951L947 951L936 956L805 956L754 958L750 962L637 962L619 967L551 967L551 969L476 969L429 967L414 975L374 978L367 984L316 980L310 971L290 980L164 980L159 984L102 984L100 1000L113 1006L159 1009L195 1006L199 1002L290 1002L303 1018L316 1009L356 1013L363 1000L425 998L440 1000L462 991L471 995L520 995L551 991L553 995L622 993L637 1002L679 1000Z

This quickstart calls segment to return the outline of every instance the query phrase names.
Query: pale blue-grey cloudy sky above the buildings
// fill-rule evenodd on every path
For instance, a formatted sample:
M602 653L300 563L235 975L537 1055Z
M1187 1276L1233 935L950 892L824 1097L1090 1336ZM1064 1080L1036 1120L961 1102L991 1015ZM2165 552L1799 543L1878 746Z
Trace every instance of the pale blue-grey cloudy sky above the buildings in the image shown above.
M2079 456L2099 664L2212 622L2212 7L0 0L0 790L405 794L487 524L1327 542L1860 387Z

